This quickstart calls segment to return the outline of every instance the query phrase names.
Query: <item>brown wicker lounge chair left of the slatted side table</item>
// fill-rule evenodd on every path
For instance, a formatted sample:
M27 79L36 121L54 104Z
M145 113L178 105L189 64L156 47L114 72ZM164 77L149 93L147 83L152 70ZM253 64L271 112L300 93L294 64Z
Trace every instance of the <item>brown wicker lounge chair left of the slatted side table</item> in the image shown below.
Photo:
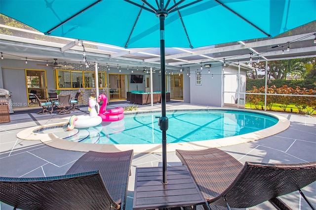
M89 151L66 175L0 177L0 201L24 210L124 210L132 156Z

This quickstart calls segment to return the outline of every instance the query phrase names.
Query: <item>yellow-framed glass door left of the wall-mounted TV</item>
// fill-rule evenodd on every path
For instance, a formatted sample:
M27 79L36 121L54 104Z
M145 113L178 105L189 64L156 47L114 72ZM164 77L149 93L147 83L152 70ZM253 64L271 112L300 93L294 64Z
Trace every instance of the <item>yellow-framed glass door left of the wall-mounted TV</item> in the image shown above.
M127 75L109 74L110 101L126 100Z

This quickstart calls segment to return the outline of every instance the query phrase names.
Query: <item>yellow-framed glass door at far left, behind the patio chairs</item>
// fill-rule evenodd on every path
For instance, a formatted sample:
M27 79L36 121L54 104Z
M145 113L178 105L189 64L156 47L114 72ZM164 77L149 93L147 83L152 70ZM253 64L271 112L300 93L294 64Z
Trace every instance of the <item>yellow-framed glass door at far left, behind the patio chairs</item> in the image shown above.
M45 70L26 70L26 87L28 94L36 94L39 99L47 98ZM29 106L39 105L32 95L29 95L28 101Z

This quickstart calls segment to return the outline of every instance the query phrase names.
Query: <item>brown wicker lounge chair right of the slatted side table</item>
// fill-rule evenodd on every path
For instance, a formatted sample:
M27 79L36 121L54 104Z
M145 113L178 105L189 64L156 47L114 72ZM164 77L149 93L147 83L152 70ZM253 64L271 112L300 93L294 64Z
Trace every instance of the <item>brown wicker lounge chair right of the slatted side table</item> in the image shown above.
M176 150L176 155L189 168L205 200L210 205L228 209L249 208L265 201L276 209L290 209L277 197L299 191L305 198L301 189L316 181L316 162L246 162L242 166L234 157L217 148Z

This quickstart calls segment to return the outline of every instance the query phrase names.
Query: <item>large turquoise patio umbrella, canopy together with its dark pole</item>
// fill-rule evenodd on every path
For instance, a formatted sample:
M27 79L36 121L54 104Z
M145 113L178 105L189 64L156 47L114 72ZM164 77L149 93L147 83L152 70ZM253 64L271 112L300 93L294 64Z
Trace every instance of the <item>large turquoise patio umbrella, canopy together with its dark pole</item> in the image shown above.
M274 37L316 20L316 0L0 0L0 13L46 35L160 47L163 183L166 179L165 47Z

